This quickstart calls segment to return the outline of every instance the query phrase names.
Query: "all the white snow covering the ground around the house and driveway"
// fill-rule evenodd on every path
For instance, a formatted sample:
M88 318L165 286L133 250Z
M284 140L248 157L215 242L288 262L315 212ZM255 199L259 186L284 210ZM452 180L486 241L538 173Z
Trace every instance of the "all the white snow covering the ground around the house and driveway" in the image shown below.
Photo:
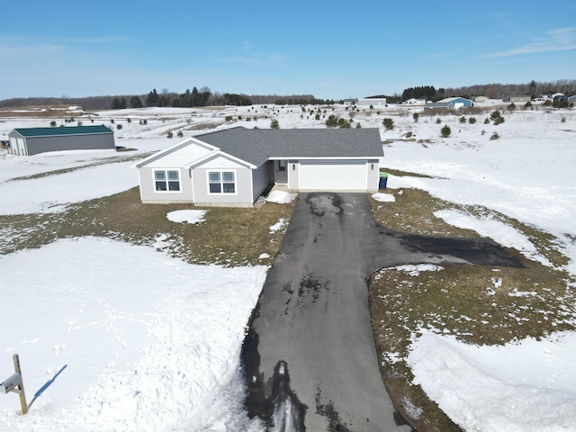
M495 106L490 106L494 109ZM334 111L333 111L334 110ZM489 112L428 116L418 107L253 106L219 109L144 108L67 113L83 124L115 130L132 151L0 154L0 215L65 211L67 204L138 185L138 157L202 131L231 126L325 128L331 113L381 130L383 166L431 178L391 175L392 190L419 188L446 200L478 204L545 230L572 259L576 275L576 112ZM412 114L419 112L419 121ZM97 114L97 115L96 115ZM393 130L384 130L391 117ZM470 115L466 115L466 118ZM58 119L64 123L65 116ZM232 120L227 120L232 119ZM437 123L437 119L440 123ZM440 137L449 125L452 134ZM49 119L0 118L0 139ZM121 125L121 129L118 129ZM500 139L491 140L494 131ZM167 138L172 132L172 139ZM103 163L101 163L103 162ZM69 170L69 168L82 168ZM52 173L51 175L42 175ZM386 205L389 196L377 196ZM283 202L284 197L277 197ZM202 213L166 214L202 223ZM545 262L526 238L494 220L455 211L438 214ZM280 229L279 220L271 230ZM18 232L0 223L2 247ZM161 243L162 238L158 238ZM532 255L530 255L532 254ZM0 394L4 430L263 430L242 409L238 352L266 266L193 266L157 247L109 238L67 238L0 256L0 380L18 353L30 413L15 394ZM567 290L576 289L567 283ZM576 309L573 305L572 311ZM574 315L572 315L572 320ZM576 325L576 320L574 320ZM437 331L436 331L437 330ZM428 395L466 430L573 430L576 424L576 338L573 332L500 347L465 346L423 329L407 359ZM473 392L473 394L472 394ZM473 397L472 397L473 396Z

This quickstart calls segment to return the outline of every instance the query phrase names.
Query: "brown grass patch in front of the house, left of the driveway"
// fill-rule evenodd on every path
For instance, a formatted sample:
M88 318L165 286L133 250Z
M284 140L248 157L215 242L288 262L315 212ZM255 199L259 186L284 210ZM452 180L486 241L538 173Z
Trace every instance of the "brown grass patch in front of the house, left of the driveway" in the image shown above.
M285 229L270 233L293 204L268 202L254 208L205 208L198 224L168 220L169 211L199 209L193 204L142 204L139 188L97 200L81 202L55 214L18 215L0 229L0 253L40 247L58 238L99 236L134 244L153 245L164 238L164 248L174 257L193 264L246 266L271 264L284 239ZM267 253L269 258L258 259Z

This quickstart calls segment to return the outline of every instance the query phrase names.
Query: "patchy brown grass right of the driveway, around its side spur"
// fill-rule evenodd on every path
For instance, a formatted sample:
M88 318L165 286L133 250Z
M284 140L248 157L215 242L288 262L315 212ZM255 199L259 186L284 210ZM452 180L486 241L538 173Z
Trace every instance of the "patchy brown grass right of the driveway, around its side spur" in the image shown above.
M411 234L479 237L476 232L452 227L433 214L437 210L456 209L500 220L518 229L554 266L543 266L509 250L522 267L452 264L443 266L441 271L419 275L386 268L372 276L369 297L374 344L383 381L396 409L419 432L460 431L419 385L411 383L413 374L404 360L410 340L419 329L436 329L465 343L501 345L574 330L576 293L569 286L575 281L563 270L567 258L549 233L481 206L444 202L425 191L403 189L385 193L392 193L396 201L371 202L374 219L387 228ZM502 279L501 286L495 284L498 278ZM418 418L410 419L414 410L407 409L407 405L421 410Z

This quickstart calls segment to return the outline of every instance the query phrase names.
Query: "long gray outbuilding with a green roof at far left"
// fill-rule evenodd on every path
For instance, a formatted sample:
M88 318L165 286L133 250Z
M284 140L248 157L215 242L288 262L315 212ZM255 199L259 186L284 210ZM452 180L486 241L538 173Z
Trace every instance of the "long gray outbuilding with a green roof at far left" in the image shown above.
M8 134L9 153L32 156L48 151L116 148L114 132L99 126L18 128Z

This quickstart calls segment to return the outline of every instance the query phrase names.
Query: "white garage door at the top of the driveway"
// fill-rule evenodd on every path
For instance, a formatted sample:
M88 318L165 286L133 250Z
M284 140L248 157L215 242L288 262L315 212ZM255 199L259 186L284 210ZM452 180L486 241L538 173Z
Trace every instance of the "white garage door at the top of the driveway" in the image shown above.
M300 166L302 191L365 191L365 160L303 160Z

